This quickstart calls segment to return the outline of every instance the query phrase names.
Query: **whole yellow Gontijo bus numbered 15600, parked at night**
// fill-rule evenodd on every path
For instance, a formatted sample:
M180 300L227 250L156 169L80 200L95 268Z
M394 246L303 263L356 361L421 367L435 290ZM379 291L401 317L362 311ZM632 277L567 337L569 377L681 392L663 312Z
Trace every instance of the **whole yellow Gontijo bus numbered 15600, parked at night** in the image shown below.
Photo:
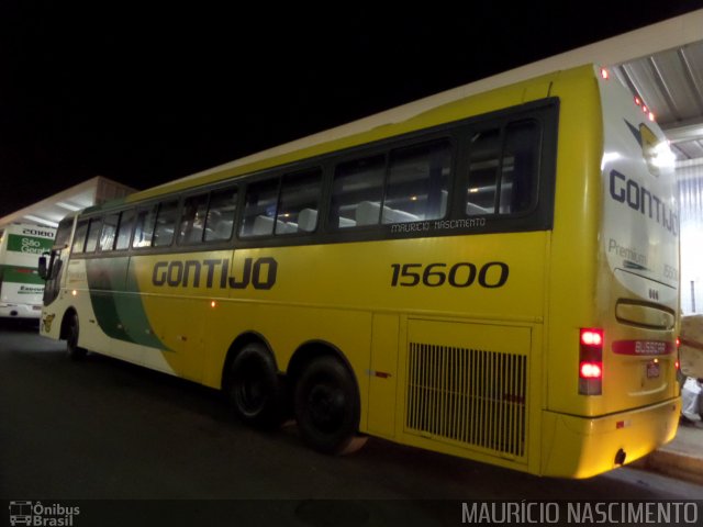
M593 65L320 134L60 223L41 333L291 414L585 478L676 434L665 137ZM366 123L366 124L365 124ZM370 123L370 124L369 124Z

